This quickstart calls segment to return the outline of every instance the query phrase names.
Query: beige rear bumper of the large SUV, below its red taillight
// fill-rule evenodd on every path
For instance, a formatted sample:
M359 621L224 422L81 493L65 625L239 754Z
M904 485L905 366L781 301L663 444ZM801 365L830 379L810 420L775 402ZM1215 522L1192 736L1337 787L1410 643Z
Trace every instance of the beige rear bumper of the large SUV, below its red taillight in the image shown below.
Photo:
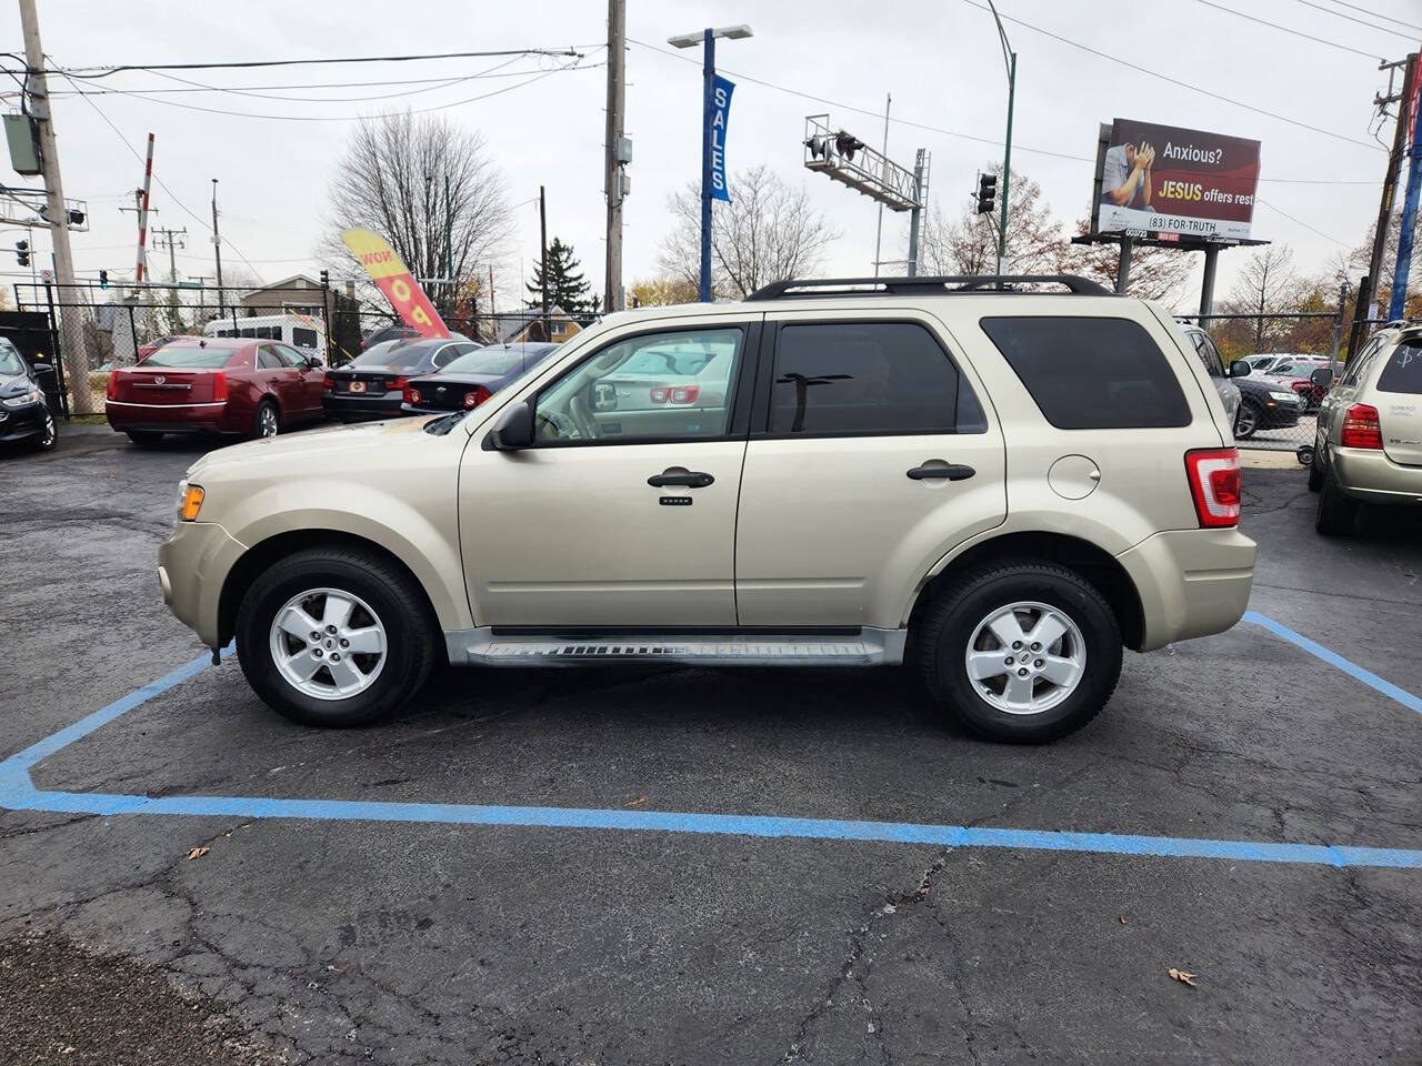
M1254 556L1254 542L1237 529L1156 533L1116 556L1140 597L1138 651L1234 625L1249 605Z

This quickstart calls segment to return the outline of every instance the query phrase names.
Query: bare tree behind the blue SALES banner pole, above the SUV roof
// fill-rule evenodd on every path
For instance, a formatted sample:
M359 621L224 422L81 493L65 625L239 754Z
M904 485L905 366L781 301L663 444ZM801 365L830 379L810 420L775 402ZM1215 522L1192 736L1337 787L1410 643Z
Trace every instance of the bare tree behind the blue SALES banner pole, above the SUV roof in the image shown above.
M674 216L658 266L695 286L701 277L701 190L688 185L667 206ZM803 189L792 189L765 166L731 178L731 203L711 216L711 287L742 297L771 281L813 274L839 232L816 212Z

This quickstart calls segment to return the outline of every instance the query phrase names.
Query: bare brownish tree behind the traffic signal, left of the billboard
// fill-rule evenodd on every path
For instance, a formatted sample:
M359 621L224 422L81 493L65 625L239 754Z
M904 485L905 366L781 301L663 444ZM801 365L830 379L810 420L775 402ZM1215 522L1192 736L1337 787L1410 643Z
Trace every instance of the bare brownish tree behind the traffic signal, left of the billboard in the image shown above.
M987 169L1003 181L1003 165ZM937 203L926 213L919 233L919 262L926 274L991 274L997 271L997 212L978 215L975 200L956 219L946 219ZM1062 225L1042 202L1042 186L1012 172L1007 205L1007 266L1014 274L1057 270L1062 256Z

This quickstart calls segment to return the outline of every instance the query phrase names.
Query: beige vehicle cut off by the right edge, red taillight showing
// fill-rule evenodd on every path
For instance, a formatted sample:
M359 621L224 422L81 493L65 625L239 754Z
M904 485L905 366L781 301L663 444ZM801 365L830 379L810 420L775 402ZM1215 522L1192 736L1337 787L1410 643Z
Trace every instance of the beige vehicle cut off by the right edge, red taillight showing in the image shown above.
M1327 367L1314 381L1331 385L1308 468L1315 529L1345 536L1365 505L1422 505L1422 325L1389 325L1348 360L1337 384Z

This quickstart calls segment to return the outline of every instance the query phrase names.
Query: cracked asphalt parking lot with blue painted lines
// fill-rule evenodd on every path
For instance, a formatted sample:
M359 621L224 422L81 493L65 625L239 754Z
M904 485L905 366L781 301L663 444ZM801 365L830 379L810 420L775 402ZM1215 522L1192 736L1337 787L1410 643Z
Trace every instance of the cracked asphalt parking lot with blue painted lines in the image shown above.
M198 453L0 456L0 1063L1422 1060L1422 516L1328 542L1246 470L1257 617L1049 746L893 669L448 672L336 733L159 600Z

